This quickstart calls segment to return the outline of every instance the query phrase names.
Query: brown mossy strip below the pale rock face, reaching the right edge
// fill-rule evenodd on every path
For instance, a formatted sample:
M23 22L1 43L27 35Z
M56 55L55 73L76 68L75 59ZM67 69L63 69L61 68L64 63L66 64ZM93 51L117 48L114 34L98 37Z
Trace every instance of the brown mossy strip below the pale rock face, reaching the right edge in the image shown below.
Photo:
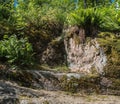
M108 79L109 82L103 82L102 80L103 78L107 78L107 79L109 78ZM76 92L81 92L85 94L111 93L118 95L119 92L117 91L120 90L119 78L110 78L108 76L102 77L99 75L91 74L81 77L80 79L76 79L74 77L67 78L67 76L64 76L60 82L62 89L69 93L76 93ZM105 84L101 85L101 82Z

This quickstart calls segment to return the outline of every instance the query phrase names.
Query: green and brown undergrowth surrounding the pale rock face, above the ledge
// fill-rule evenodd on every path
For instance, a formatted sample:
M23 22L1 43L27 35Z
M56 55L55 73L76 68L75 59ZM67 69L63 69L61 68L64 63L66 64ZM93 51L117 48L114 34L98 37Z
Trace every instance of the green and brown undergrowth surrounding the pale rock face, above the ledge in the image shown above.
M110 33L102 34L99 40L108 54L108 69L119 69L120 10L107 1L83 4L80 1L76 7L72 0L32 0L19 1L14 7L12 1L0 2L0 61L29 66L32 61L44 64L42 61L47 60L45 64L65 65L63 32L77 25L85 37L99 38L98 33Z

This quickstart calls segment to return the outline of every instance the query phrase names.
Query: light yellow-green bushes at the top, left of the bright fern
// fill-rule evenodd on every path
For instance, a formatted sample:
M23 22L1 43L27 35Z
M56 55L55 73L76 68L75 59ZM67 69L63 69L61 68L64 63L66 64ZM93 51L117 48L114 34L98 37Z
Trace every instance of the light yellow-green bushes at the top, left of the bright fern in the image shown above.
M17 23L16 25L19 27L22 26L25 27L32 24L36 27L43 27L46 21L56 22L56 23L64 22L65 15L63 14L65 11L63 12L63 10L56 7L54 2L48 4L49 0L45 2L40 0L37 1L33 0L28 2L28 5L26 5L23 2L20 2L14 14L14 16L16 17L16 23Z

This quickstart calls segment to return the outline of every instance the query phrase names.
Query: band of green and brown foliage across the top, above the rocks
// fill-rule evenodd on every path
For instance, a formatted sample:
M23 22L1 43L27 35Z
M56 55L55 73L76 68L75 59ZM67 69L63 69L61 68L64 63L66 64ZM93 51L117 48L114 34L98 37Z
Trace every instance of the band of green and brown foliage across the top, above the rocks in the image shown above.
M99 0L98 3L87 0L86 9L84 0L79 0L78 9L75 8L74 0L19 0L16 8L13 8L13 0L8 1L0 2L0 39L4 34L28 37L38 54L62 34L65 23L89 30L88 34L96 30L120 29L120 11L115 9L114 4L108 6L108 0Z

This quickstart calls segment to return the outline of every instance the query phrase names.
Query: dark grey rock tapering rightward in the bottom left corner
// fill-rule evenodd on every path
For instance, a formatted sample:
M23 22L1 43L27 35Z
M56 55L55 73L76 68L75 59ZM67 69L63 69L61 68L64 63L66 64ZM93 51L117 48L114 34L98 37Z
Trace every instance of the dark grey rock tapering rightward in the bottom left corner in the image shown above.
M20 97L39 97L41 93L15 83L0 80L0 104L21 104Z

